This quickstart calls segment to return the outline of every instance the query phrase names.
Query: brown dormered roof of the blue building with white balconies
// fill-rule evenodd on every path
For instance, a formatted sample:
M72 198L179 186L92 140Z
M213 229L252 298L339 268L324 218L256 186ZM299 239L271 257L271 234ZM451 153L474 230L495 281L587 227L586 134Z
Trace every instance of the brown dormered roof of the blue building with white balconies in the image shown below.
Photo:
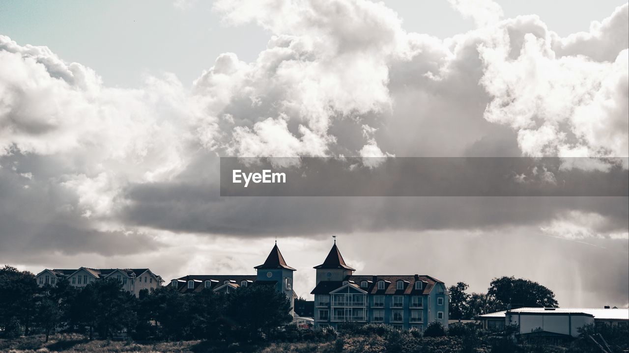
M385 276L372 276L372 275L352 275L345 276L343 281L352 281L353 284L359 287L361 290L366 291L369 294L379 295L379 294L413 294L413 295L423 295L428 294L435 287L436 283L443 283L442 281L435 280L431 276L418 275L418 274L410 274L410 275L385 275ZM343 286L343 281L320 281L318 285L316 285L315 289L310 292L310 294L329 294L331 291L341 288ZM360 287L360 282L367 281L367 287ZM384 281L384 290L379 290L377 283L379 281ZM398 290L397 282L404 281L404 288ZM422 281L422 289L415 289L415 282ZM351 283L351 282L350 282Z

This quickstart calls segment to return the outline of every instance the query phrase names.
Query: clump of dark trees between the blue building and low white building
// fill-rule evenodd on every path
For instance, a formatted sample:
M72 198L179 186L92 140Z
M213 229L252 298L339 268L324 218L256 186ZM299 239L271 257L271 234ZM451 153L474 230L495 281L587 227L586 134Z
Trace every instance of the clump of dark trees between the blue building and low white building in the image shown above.
M494 278L487 293L467 293L468 288L464 282L448 288L451 319L474 320L478 315L523 307L559 307L552 290L523 278Z

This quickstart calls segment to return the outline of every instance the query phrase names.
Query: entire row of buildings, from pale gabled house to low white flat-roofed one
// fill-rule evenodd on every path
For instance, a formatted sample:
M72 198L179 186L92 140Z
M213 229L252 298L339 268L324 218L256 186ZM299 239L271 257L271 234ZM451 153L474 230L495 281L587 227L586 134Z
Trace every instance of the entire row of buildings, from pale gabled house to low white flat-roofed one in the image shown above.
M296 269L288 266L277 247L264 263L253 267L253 274L188 274L175 278L167 287L179 293L213 290L231 293L240 287L271 285L291 302L294 322L308 327L337 327L343 322L386 323L398 329L423 330L430 322L448 326L450 296L443 281L426 274L355 274L345 263L336 241L323 263L314 267L316 283L311 294L315 300L294 308L293 288ZM55 285L67 279L72 286L86 286L99 278L117 278L125 290L139 295L140 290L162 286L164 280L148 268L141 269L45 269L36 275L40 286ZM557 337L576 337L579 327L588 323L627 325L629 309L605 308L518 308L489 313L477 318L485 329L517 325L520 334L542 332Z

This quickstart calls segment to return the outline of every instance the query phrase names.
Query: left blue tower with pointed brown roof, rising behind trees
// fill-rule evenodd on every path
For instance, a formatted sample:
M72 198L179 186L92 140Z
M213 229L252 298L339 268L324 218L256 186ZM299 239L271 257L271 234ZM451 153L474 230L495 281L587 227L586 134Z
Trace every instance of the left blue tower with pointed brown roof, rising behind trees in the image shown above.
M284 256L277 247L277 241L264 264L254 267L257 271L256 281L259 283L275 282L277 291L282 292L291 301L291 314L294 315L294 297L292 295L292 273L296 269L288 266L284 261Z

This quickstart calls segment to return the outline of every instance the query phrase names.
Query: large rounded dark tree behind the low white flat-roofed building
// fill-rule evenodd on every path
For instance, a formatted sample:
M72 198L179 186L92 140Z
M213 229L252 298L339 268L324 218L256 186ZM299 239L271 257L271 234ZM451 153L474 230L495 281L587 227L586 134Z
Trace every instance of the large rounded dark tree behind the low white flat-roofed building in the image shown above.
M489 285L487 294L501 304L499 310L521 307L558 307L552 290L537 282L514 278L513 276L494 278Z

